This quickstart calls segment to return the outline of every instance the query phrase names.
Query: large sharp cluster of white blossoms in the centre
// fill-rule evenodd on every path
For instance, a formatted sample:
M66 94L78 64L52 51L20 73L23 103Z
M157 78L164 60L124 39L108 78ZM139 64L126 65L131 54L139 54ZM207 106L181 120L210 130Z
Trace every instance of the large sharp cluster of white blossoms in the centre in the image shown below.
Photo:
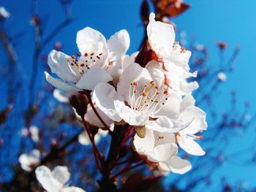
M80 120L108 128L102 135L124 126L134 132L127 140L132 149L146 156L148 164L156 165L157 172L184 174L191 164L178 156L179 148L191 155L205 154L196 141L207 128L206 113L195 106L192 96L197 82L187 80L197 72L189 72L191 52L175 41L173 26L156 21L154 13L147 35L148 41L138 53L126 55L126 30L107 41L99 31L86 27L78 31L79 53L50 52L48 65L59 78L45 72L46 79L69 95L90 98ZM87 134L79 137L80 142L89 142Z

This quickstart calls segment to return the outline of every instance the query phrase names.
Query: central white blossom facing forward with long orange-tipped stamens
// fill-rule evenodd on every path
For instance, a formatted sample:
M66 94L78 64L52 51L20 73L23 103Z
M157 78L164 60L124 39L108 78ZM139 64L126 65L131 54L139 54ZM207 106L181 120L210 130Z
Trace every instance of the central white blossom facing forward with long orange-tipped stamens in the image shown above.
M121 74L117 90L108 83L99 83L93 92L94 100L112 120L176 132L180 127L174 128L170 118L178 117L181 96L164 85L164 78L158 69L148 72L131 64Z

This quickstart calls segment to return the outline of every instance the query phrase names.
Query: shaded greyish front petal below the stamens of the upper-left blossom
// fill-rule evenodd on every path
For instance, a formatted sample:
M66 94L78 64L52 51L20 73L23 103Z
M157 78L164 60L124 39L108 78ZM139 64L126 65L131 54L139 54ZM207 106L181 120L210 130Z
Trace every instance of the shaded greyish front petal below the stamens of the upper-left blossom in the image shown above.
M93 66L80 78L76 86L81 89L94 90L99 82L109 82L112 77L99 66Z

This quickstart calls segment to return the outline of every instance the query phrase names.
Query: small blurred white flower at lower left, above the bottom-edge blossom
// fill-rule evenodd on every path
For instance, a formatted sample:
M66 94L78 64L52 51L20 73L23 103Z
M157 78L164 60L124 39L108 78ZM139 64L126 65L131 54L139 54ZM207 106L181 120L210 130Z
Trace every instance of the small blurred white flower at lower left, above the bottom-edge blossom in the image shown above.
M39 150L32 150L31 153L23 153L20 155L18 161L20 166L26 172L31 172L33 167L39 164L40 152Z

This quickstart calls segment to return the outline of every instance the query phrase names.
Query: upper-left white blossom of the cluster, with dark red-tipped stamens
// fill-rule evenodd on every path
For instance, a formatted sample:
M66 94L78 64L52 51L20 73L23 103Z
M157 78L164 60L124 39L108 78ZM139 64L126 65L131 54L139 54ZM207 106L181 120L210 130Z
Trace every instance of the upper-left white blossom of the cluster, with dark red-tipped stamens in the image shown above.
M50 84L64 91L93 90L99 82L109 82L121 66L121 58L129 47L129 34L118 31L108 42L93 28L78 31L78 57L52 50L48 56L51 72L60 79L45 72Z

